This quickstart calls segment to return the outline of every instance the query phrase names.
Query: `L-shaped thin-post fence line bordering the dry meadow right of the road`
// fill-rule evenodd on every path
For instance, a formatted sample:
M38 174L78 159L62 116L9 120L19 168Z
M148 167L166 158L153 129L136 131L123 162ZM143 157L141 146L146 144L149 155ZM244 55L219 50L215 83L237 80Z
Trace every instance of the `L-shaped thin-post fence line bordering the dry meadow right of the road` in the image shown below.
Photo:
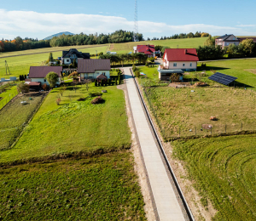
M151 94L150 89L148 90L148 88L145 87L143 87L143 94L148 101L149 109L153 114L154 120L157 122L160 133L165 141L256 133L256 122L236 122L231 124L218 124L212 122L189 126L174 126L172 129L166 129L162 126L159 116L154 109L154 105L151 102L150 96L154 96L154 94Z

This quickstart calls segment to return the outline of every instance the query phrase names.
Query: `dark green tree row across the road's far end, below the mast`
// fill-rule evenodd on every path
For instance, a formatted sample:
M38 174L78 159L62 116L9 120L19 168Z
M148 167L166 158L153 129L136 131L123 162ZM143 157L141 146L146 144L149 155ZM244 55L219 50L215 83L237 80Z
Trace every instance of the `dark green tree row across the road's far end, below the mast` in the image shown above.
M111 65L145 64L148 56L146 54L102 54L100 59L110 59Z

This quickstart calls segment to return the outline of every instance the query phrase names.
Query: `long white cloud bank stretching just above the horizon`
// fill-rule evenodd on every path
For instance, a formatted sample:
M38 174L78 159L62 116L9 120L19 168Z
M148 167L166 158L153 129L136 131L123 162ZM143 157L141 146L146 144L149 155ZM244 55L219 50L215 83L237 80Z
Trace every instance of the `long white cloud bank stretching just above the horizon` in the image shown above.
M101 14L56 14L38 13L33 11L7 11L0 8L0 39L10 37L38 37L42 39L49 35L70 31L73 33L109 33L119 29L133 31L133 20L126 20L120 16ZM235 35L245 35L242 26L212 26L205 24L190 24L171 26L166 23L140 20L139 32L144 37L172 36L181 32L207 31L212 35L223 35L227 32ZM256 35L256 32L246 32Z

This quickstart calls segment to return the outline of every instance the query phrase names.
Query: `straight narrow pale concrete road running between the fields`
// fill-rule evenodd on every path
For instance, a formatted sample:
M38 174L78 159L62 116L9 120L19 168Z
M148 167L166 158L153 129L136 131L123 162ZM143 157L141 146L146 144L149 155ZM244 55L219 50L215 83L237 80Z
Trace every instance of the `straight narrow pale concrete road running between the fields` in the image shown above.
M185 220L144 114L143 105L137 94L135 82L131 77L130 68L124 68L124 71L137 137L142 149L149 184L154 195L160 221Z

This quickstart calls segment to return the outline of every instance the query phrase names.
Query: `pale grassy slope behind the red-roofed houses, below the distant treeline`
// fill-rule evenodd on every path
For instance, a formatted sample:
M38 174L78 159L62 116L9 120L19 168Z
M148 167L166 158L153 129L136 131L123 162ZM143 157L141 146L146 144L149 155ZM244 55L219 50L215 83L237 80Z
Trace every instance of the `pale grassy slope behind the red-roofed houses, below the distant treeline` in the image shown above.
M170 48L198 48L203 46L207 37L196 37L196 38L183 38L183 39L168 39L168 40L156 40L156 41L144 41L144 42L127 42L127 43L115 43L113 45L113 52L119 54L133 52L133 47L137 44L153 44L168 46Z

